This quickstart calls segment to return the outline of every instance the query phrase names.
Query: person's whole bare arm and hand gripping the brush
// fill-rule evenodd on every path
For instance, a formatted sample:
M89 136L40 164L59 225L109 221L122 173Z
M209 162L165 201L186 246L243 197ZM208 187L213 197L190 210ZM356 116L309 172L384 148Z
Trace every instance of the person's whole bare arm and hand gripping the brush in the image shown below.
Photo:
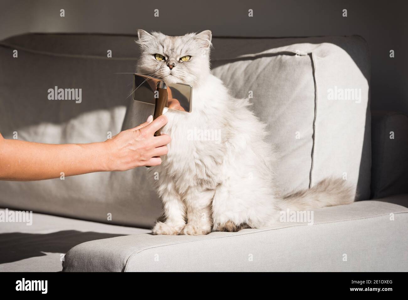
M160 165L168 135L154 136L167 123L162 115L100 143L42 144L4 139L0 133L0 180L30 181Z

